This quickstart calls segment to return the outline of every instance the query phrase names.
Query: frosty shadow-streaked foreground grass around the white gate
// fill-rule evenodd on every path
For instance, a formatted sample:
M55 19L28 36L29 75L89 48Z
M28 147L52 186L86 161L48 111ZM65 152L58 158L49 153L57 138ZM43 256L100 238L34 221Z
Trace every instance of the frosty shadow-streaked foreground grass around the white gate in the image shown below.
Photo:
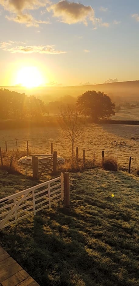
M139 285L138 183L102 169L71 174L70 209L3 229L1 245L41 286ZM0 171L0 184L4 197L35 182Z

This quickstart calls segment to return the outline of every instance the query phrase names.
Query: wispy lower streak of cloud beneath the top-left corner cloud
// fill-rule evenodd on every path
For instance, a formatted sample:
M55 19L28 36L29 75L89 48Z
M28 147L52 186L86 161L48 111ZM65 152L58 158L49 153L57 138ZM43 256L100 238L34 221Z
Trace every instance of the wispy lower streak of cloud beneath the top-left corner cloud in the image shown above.
M32 15L22 13L17 16L15 14L12 16L6 16L6 19L8 19L9 21L14 21L16 23L25 24L27 27L38 27L39 24L50 24L49 21L36 20L33 18Z

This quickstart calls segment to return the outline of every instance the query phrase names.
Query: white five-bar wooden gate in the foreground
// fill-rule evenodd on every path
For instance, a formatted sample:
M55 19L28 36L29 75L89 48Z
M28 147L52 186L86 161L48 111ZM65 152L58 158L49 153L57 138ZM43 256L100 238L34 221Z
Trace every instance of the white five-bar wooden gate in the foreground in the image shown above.
M64 174L0 199L0 229L64 199Z

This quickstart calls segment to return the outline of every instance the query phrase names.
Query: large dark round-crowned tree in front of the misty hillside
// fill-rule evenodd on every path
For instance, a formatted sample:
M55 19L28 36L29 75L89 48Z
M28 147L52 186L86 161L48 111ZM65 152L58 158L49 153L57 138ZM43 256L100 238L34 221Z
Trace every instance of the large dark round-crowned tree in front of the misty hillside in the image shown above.
M115 115L115 104L104 92L86 91L78 97L77 106L84 116L91 116L93 122Z

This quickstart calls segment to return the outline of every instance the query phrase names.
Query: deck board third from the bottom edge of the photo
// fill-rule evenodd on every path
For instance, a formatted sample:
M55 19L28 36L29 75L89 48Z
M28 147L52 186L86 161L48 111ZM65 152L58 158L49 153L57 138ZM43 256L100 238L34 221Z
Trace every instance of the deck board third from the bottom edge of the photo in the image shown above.
M0 283L5 281L12 275L16 274L20 270L22 270L22 267L16 262L12 263L12 267L9 266L3 267L2 269L0 269Z

